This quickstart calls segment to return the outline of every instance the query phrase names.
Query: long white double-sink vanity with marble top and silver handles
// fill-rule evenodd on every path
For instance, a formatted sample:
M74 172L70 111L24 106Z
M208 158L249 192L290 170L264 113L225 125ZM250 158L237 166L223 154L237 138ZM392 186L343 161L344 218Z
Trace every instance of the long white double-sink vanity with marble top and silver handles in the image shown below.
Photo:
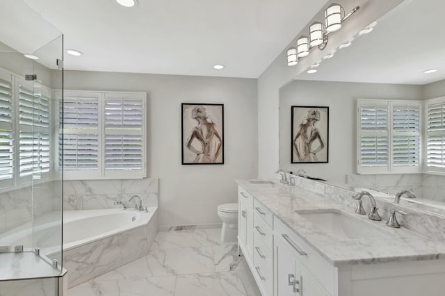
M387 227L391 204L371 221L322 183L237 183L238 245L262 295L445 295L445 242Z

